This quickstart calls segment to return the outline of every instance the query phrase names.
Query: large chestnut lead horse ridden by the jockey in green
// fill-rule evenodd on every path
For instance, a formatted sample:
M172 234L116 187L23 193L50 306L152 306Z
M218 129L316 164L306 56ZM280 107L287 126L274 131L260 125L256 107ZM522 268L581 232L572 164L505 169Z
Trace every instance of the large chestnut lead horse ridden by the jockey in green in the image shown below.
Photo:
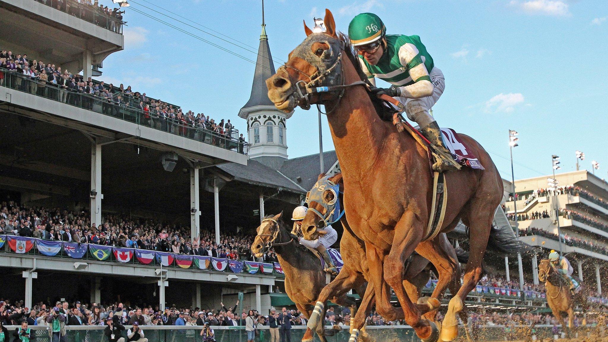
M306 39L289 54L289 60L266 80L268 97L279 110L292 111L310 103L326 105L336 154L342 169L344 208L353 233L365 242L369 279L373 279L378 312L389 320L403 316L416 335L435 342L434 323L421 318L421 308L410 301L402 284L406 260L426 236L432 203L432 173L426 149L408 134L399 133L378 116L376 105L363 81L358 57L340 39L329 10L325 11L326 32L313 33L305 26ZM328 86L331 91L320 93ZM309 94L310 93L310 94ZM305 95L306 94L306 95ZM485 170L464 168L446 173L449 191L441 232L449 232L460 220L469 227L471 250L464 283L448 305L441 338L451 341L458 335L457 314L463 298L482 274L482 258L492 231L494 211L500 204L503 186L494 162L474 139L461 139L476 155ZM303 225L305 238L316 239L316 222ZM402 313L390 304L393 288ZM366 291L364 300L368 296ZM424 312L422 312L424 313ZM365 321L362 310L356 315L351 338Z

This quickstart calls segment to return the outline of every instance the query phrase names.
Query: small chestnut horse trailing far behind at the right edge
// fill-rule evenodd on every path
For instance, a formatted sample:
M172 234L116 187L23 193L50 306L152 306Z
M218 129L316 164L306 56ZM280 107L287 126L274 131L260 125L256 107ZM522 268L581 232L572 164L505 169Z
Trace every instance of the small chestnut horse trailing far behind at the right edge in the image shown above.
M541 260L538 265L538 280L545 282L547 290L547 304L553 312L553 316L558 320L562 327L564 325L563 313L568 315L568 331L572 331L574 327L574 309L575 305L579 304L583 307L587 306L587 297L589 297L589 289L581 285L581 290L572 295L570 292L570 284L556 270L548 259Z

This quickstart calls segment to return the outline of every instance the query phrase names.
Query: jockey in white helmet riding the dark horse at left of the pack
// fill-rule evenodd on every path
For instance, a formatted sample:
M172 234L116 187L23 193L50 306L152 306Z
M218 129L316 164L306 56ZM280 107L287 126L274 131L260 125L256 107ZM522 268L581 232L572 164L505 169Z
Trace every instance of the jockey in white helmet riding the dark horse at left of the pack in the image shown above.
M336 229L331 228L331 226L326 226L323 230L319 231L320 235L316 240L306 240L298 236L302 231L302 220L304 220L307 211L308 209L305 206L299 206L294 209L291 218L291 220L294 221L291 237L299 242L300 245L317 250L319 254L321 254L321 257L325 260L325 272L338 274L338 269L336 268L336 265L334 265L333 260L331 260L330 253L327 251L327 248L336 243L336 240L338 239Z

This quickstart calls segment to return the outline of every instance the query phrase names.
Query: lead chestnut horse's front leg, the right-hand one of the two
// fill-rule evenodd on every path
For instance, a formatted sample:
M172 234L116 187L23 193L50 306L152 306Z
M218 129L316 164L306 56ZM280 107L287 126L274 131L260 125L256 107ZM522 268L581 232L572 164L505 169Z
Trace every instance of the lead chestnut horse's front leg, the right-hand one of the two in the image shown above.
M423 342L435 342L439 338L437 326L421 317L421 313L429 312L430 307L426 304L413 304L406 295L402 284L405 262L422 240L423 234L423 223L414 212L406 211L395 225L393 246L389 255L384 259L384 280L395 291L399 304L403 308L404 318L407 324L416 331L416 335Z

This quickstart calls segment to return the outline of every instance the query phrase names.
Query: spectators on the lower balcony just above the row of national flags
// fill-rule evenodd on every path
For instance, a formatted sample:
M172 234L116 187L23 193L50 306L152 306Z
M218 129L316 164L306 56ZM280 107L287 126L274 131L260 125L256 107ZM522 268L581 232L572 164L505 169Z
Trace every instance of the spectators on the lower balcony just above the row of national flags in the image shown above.
M191 242L189 227L121 215L106 215L103 225L96 227L83 212L25 208L14 201L0 203L0 234L235 260L277 261L272 251L256 259L250 250L252 237L243 234L221 235L218 244L215 243L215 234L201 231L201 236Z

